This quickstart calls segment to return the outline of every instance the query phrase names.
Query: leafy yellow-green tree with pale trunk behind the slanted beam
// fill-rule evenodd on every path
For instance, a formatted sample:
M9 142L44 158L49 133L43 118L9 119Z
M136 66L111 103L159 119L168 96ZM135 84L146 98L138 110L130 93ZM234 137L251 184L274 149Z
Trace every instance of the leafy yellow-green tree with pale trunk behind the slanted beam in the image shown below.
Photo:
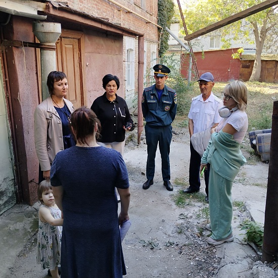
M189 33L204 28L228 16L244 11L264 0L196 0L183 12ZM278 24L276 7L261 11L243 20L218 29L223 45L230 47L230 41L255 42L256 55L250 80L258 81L261 73L261 54L269 32ZM226 38L225 36L229 36Z

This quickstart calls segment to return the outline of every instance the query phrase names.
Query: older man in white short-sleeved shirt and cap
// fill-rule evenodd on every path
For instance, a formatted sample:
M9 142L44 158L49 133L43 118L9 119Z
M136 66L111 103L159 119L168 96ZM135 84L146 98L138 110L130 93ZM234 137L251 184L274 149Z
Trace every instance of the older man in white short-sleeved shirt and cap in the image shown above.
M214 78L210 72L203 73L200 77L199 87L201 95L192 99L189 111L189 134L190 137L197 132L213 128L218 125L221 117L218 110L223 106L223 102L212 93L214 86ZM190 166L189 166L189 188L183 190L183 193L194 193L200 191L200 165L201 156L193 148L190 142ZM208 170L205 170L206 183L206 202L208 202L208 180L209 180L209 164Z

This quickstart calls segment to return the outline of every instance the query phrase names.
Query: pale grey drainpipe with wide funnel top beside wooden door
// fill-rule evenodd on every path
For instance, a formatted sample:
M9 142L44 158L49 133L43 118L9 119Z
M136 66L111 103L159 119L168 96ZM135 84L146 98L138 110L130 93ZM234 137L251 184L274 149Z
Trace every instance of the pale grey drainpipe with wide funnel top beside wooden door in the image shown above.
M41 94L42 100L49 97L47 86L48 75L56 70L56 45L55 42L61 35L61 24L54 22L33 22L33 33L39 40L40 67L41 67Z

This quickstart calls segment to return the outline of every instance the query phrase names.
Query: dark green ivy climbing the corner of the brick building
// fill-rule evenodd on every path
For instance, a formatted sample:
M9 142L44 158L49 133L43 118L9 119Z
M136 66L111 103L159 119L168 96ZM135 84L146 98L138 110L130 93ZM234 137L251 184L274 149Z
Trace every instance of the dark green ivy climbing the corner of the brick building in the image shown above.
M157 24L163 27L163 31L160 37L160 47L158 56L162 57L163 54L168 50L169 44L169 33L165 30L165 27L170 29L172 23L172 17L174 15L174 3L172 0L158 0L158 19ZM161 28L158 28L158 31L161 32Z

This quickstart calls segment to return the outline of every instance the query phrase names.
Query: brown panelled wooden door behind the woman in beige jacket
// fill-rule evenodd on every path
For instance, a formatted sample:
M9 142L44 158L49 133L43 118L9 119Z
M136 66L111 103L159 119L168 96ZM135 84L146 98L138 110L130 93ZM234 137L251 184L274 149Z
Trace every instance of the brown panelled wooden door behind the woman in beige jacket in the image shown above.
M81 34L62 31L56 42L57 68L68 77L67 99L75 109L84 105L80 40Z

